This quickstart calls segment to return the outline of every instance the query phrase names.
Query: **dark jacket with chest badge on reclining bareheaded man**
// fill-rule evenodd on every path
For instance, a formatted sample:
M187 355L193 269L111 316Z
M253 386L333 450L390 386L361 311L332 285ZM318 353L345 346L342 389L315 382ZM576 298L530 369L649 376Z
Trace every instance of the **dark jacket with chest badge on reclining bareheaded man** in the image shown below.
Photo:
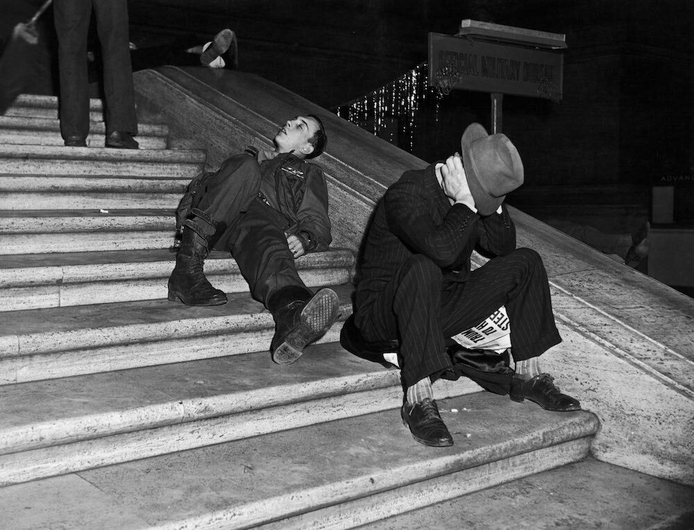
M323 170L284 153L260 162L260 192L266 204L285 216L290 234L307 252L327 250L332 241L328 217L328 186Z

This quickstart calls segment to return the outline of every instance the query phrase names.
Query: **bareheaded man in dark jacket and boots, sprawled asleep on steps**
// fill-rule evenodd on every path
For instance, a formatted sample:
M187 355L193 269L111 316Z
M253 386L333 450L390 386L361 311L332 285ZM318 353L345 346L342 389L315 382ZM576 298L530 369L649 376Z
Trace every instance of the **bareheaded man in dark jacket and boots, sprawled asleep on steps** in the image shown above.
M326 142L318 117L290 119L280 126L273 151L232 156L217 172L196 177L177 212L180 248L169 300L226 303L226 294L205 278L203 262L212 248L229 251L253 298L275 319L270 350L278 364L296 361L337 318L335 291L314 295L294 263L332 241L325 176L306 162L320 155Z

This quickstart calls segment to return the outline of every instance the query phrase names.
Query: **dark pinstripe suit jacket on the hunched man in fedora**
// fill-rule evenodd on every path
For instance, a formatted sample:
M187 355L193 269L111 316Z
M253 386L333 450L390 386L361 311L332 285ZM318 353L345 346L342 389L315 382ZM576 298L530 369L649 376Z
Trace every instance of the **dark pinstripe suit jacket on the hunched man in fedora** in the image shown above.
M516 228L505 205L501 214L486 217L465 205L451 205L434 169L431 164L406 171L379 201L364 241L357 311L378 296L412 255L425 255L441 267L444 282L464 282L478 244L492 256L516 248Z

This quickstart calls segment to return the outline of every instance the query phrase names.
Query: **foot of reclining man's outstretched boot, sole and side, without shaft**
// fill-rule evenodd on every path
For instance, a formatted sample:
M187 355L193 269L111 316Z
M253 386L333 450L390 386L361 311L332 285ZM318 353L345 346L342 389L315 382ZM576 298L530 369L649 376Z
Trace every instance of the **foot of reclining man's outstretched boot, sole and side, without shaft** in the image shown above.
M317 341L337 318L339 298L332 289L321 289L308 302L297 300L282 310L270 345L272 360L291 364L303 349Z

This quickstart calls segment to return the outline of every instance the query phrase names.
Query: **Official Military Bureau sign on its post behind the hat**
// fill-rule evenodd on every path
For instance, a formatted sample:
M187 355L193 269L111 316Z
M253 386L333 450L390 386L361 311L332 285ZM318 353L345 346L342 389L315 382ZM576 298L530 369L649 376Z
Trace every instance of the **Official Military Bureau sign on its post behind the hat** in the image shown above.
M491 130L501 132L504 94L561 100L566 37L466 19L457 35L429 33L429 84L491 94Z

